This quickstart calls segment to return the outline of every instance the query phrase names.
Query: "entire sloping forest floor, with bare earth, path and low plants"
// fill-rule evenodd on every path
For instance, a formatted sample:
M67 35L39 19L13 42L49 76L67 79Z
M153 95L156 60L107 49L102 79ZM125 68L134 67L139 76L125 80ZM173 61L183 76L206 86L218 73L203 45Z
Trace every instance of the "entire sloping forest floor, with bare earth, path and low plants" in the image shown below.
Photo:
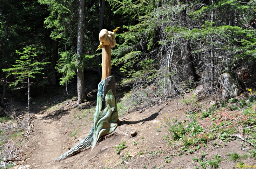
M17 132L18 129L4 129L8 124L18 124L27 115L18 120L1 119L1 152L11 140L16 150L23 154L23 160L6 161L6 167L233 169L243 168L245 164L256 166L256 101L242 94L222 103L216 103L216 98L204 98L199 102L193 95L195 90L187 93L184 99L169 99L133 112L128 111L121 100L118 105L121 124L116 131L104 137L93 150L89 148L53 162L82 141L92 127L97 88L87 90L90 102L80 106L76 105L75 98L37 97L31 110L33 133L26 137L22 137L23 131ZM61 91L62 88L55 90ZM58 98L62 100L41 106ZM20 99L12 98L12 102L20 111L26 111L26 104ZM16 132L15 137L12 131ZM136 131L137 135L132 137L131 131Z

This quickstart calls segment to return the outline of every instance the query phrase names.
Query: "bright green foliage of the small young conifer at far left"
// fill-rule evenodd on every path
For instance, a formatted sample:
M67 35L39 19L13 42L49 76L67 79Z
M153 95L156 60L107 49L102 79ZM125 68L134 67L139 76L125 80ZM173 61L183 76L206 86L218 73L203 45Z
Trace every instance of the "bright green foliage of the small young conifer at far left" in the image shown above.
M16 75L17 80L12 82L9 86L16 86L18 83L22 83L27 78L36 78L35 74L41 73L43 65L49 64L47 62L42 63L35 59L36 54L34 53L36 49L31 46L23 48L23 51L16 51L20 56L20 60L15 60L15 65L12 68L2 69L3 72L8 72L7 77L10 74Z

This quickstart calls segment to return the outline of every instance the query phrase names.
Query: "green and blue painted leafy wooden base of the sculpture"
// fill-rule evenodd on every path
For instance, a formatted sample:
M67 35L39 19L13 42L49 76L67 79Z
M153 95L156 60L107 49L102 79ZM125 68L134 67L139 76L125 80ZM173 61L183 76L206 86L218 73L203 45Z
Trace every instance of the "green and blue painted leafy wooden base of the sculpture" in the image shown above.
M64 159L90 146L92 146L93 149L103 135L110 134L116 129L118 125L118 111L116 98L112 91L112 89L115 90L114 84L114 76L110 76L99 83L94 121L89 134L83 141L56 158L54 161ZM106 89L109 88L112 89L105 95Z

